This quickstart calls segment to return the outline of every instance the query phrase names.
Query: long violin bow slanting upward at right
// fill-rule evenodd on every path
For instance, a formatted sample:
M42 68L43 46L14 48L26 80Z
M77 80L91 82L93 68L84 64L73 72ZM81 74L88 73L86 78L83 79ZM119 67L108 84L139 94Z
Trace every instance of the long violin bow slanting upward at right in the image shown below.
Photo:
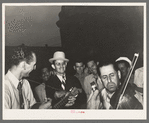
M131 75L132 75L132 72L133 72L133 70L134 70L134 67L135 67L136 62L137 62L137 60L138 60L138 57L139 57L139 53L135 53L135 54L134 54L134 57L133 57L133 59L132 59L132 64L131 64L131 66L130 66L129 72L128 72L126 78L125 78L125 81L124 81L124 83L125 83L125 84L124 84L124 88L123 88L122 94L121 94L121 96L120 96L120 98L119 98L119 101L123 98L123 95L124 95L124 93L125 93L126 87L127 87L127 85L128 85L128 82L129 82L129 80L130 80L130 77L131 77ZM118 101L118 102L119 102L119 101ZM118 109L118 107L119 107L119 103L117 104L116 109Z

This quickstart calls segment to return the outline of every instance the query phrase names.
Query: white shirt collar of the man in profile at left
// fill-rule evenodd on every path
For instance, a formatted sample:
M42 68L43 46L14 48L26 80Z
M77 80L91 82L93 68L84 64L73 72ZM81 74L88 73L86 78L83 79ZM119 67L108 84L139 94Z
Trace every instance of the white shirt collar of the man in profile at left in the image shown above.
M10 70L8 70L7 72L7 77L9 78L11 83L15 86L15 88L17 88L19 84L19 80L10 72Z

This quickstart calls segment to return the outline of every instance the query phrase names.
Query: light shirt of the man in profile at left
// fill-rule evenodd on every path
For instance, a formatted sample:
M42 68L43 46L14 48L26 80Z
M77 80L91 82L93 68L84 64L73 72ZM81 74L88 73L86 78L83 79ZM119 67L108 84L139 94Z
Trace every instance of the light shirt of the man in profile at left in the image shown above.
M36 103L29 82L23 79L22 95L24 108L29 109ZM8 71L5 75L5 109L20 109L19 91L17 89L19 80Z

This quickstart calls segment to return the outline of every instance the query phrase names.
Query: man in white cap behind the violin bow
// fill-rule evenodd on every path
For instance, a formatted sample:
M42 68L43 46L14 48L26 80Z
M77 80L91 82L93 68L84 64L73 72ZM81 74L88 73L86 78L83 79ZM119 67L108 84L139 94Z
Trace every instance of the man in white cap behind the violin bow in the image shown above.
M127 73L131 67L131 61L127 57L119 57L116 60L116 64L118 66L118 69L121 72L121 82L124 82L124 80L127 76ZM132 85L133 82L134 82L134 75L132 74L132 76L129 80L129 83Z

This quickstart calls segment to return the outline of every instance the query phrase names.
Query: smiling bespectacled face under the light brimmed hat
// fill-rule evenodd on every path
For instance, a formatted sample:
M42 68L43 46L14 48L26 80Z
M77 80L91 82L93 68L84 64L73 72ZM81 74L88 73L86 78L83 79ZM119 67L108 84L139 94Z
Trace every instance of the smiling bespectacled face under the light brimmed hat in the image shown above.
M54 62L54 69L58 74L64 74L66 71L67 62L64 60L56 60Z

